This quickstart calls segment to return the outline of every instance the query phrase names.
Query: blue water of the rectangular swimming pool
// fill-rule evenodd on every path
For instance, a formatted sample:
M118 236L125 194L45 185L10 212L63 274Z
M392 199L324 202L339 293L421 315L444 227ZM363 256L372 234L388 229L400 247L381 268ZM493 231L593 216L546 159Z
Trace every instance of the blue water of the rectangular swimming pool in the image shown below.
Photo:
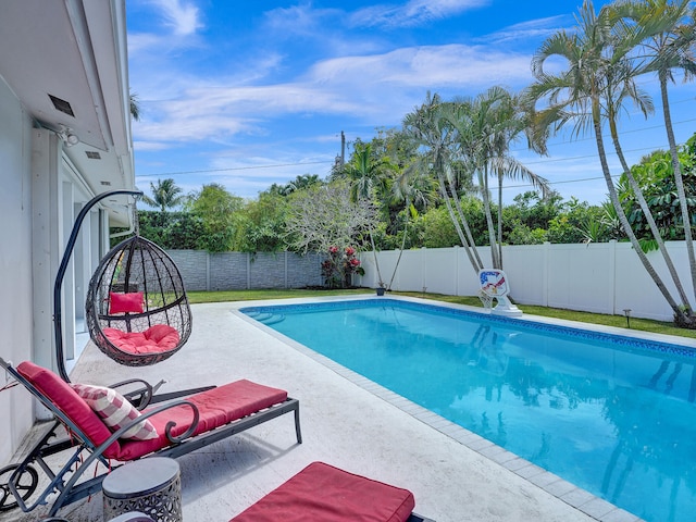
M241 310L649 522L696 512L696 353L393 299Z

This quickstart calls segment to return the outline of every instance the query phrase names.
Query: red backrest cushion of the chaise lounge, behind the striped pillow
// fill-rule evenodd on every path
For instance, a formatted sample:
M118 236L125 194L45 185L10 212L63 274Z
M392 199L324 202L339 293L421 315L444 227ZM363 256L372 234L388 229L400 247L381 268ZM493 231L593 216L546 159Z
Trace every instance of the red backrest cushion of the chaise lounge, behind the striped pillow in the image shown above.
M22 362L17 372L65 413L95 446L101 445L111 436L111 432L97 413L57 374L29 361ZM104 451L104 456L111 458L117 455L120 449L119 443L115 442Z

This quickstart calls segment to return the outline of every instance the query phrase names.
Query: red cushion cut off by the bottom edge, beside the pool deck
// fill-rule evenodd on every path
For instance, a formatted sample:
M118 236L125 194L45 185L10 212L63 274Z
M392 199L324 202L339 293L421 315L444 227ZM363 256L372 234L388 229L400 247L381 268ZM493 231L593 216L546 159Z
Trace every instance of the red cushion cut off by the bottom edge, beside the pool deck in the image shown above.
M411 492L313 462L231 522L406 522Z

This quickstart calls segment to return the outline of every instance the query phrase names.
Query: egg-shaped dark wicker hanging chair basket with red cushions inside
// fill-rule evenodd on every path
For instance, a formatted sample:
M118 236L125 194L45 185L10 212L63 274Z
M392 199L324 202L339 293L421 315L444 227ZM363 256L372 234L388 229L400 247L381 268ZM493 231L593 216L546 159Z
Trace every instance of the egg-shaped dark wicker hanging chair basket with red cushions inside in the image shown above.
M111 249L89 282L87 327L114 361L156 364L178 351L191 333L191 312L174 261L135 235Z

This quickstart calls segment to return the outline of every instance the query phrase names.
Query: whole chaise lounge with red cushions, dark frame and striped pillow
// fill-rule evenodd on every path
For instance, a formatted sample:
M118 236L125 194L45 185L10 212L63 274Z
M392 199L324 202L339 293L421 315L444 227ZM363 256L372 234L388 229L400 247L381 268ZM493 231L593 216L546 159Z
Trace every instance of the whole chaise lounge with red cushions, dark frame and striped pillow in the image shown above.
M71 385L28 361L13 368L0 358L0 366L55 419L21 463L0 470L0 477L9 475L7 485L0 484L2 510L18 505L23 511L30 511L49 504L47 497L54 494L58 498L49 511L53 517L62 506L101 489L107 472L78 482L85 471L95 469L91 464L101 462L110 469L151 456L177 458L289 412L295 412L297 442L302 442L299 401L289 398L287 391L246 380L134 412L112 388ZM59 438L61 425L67 437ZM139 439L126 439L124 435ZM67 461L59 471L51 470L45 457L66 450L72 451ZM49 480L38 498L33 497L38 472L32 464L38 464ZM36 500L27 505L29 498Z

